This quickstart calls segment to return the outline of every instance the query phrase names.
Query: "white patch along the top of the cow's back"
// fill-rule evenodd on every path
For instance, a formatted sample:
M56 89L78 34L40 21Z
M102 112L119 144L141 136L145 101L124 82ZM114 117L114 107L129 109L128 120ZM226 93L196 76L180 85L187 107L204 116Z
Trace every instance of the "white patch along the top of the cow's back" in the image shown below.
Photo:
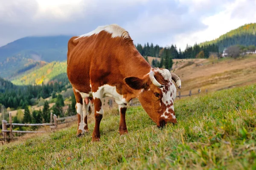
M110 24L110 25L106 25L106 26L98 26L95 30L88 32L87 34L80 35L76 39L78 39L80 37L90 37L91 35L99 34L99 32L101 32L103 30L112 34L112 36L111 36L112 38L114 38L114 37L128 38L129 37L129 33L125 29L123 29L122 27L120 27L117 24Z

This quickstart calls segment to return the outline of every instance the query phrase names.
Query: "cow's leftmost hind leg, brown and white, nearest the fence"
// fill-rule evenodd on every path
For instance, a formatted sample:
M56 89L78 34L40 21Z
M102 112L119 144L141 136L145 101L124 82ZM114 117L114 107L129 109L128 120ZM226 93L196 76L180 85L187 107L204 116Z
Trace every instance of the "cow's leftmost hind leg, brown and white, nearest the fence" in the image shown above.
M76 98L76 112L77 112L77 137L81 137L84 135L84 128L83 128L83 99L79 92L73 89L75 98Z

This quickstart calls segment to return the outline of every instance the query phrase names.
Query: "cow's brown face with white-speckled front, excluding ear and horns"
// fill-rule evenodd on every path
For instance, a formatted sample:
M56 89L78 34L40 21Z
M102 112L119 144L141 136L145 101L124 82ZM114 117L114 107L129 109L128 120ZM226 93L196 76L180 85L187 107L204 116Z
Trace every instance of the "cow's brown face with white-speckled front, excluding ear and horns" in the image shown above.
M148 89L141 90L140 102L158 127L163 127L168 122L177 123L174 112L177 89L172 81L172 75L167 69L156 69L154 72L154 78L163 86L152 83Z

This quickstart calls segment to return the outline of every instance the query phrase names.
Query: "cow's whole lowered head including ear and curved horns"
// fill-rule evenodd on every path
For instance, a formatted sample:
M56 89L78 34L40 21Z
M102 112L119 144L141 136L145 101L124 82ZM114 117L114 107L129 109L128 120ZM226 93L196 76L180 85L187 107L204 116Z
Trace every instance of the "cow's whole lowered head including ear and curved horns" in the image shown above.
M149 117L163 127L166 123L177 123L173 102L176 98L176 87L181 88L180 78L168 69L155 69L144 78L127 77L126 84L132 89L140 90L138 98Z

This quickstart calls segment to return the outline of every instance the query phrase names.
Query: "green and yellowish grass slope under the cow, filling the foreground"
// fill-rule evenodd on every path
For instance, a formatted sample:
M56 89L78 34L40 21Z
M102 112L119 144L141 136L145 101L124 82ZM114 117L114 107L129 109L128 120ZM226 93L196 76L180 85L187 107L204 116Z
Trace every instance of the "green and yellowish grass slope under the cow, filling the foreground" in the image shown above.
M175 101L178 124L159 130L142 107L106 113L101 141L76 126L0 147L0 169L256 169L256 85Z

